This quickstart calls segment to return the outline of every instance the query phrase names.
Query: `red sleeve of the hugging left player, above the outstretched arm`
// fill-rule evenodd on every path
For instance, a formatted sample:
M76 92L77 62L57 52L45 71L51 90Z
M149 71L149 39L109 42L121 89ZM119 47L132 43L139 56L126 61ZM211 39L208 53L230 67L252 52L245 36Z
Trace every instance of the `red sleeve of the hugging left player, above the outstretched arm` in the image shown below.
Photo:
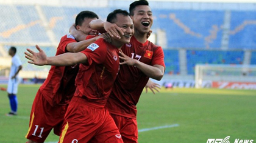
M68 34L68 35L63 36L62 39L60 39L60 44L58 46L57 51L61 50L62 53L67 52L66 45L68 45L71 42L77 42L73 35ZM58 54L58 52L57 52L57 54Z

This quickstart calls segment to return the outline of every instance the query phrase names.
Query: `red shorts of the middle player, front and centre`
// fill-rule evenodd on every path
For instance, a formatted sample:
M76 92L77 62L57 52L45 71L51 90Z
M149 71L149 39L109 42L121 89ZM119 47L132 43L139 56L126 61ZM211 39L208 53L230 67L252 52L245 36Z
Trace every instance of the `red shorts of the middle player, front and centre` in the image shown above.
M123 140L106 108L92 107L76 96L66 111L65 124L59 143L65 142L121 142Z

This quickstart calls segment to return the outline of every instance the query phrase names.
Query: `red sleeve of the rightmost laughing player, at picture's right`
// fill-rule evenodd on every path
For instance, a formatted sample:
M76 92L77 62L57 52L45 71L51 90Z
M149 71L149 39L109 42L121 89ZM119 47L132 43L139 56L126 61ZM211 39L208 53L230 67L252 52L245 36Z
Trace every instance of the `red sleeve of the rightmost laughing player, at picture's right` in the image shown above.
M154 51L154 55L152 57L152 65L162 65L165 67L165 56L163 55L163 49L162 47L157 47L157 49Z

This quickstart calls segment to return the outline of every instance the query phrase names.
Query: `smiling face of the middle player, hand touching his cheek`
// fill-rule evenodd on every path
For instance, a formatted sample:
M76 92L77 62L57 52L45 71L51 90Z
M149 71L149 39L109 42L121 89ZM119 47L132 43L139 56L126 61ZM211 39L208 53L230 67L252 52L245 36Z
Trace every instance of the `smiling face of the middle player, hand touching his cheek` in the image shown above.
M116 41L121 42L122 44L127 44L130 42L130 38L132 37L133 33L134 33L134 25L132 22L132 19L130 18L130 16L124 16L124 15L116 15L116 25L118 25L118 27L121 27L123 29L124 35L121 35L121 33L119 33L119 35L121 36L120 39L115 38L114 39Z

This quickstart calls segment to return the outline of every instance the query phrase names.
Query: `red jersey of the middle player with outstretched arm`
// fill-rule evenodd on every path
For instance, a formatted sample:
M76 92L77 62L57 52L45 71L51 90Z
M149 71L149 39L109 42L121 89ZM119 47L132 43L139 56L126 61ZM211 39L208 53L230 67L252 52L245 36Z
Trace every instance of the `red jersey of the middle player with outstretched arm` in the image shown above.
M82 51L87 64L80 64L74 96L84 98L87 105L105 107L119 70L119 50L99 39Z

